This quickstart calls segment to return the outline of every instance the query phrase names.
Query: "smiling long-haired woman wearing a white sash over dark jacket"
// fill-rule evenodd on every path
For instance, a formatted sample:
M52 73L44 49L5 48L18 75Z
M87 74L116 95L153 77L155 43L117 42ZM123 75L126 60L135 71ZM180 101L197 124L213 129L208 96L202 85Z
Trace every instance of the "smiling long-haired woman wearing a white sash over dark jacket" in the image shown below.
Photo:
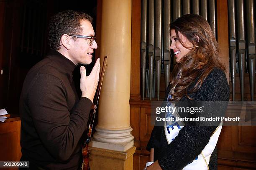
M218 43L207 21L200 15L184 15L170 25L170 34L177 64L165 100L229 100L225 66L220 62ZM225 109L218 111L224 113ZM169 140L166 125L155 125L147 145L154 163L146 169L217 169L220 130L221 126L191 126L188 122ZM207 149L210 153L205 152Z

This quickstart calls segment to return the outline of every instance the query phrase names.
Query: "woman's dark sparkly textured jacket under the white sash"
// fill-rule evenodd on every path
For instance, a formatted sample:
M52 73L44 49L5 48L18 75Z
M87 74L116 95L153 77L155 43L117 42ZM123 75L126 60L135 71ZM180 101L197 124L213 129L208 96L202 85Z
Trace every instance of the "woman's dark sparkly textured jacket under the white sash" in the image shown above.
M193 83L188 91L192 87ZM170 90L171 86L169 85L165 100L167 100ZM188 95L196 101L228 101L229 86L225 73L218 68L214 68L206 77L200 89L197 92L188 93ZM183 96L181 101L184 100L189 100L189 98ZM225 109L222 111L225 112ZM210 112L210 115L214 114L214 111ZM182 170L201 153L216 128L215 125L192 126L187 124L179 130L177 137L168 145L164 126L154 126L146 149L150 151L151 148L154 148L154 161L158 160L163 170ZM210 170L217 169L216 147L210 157L209 168Z

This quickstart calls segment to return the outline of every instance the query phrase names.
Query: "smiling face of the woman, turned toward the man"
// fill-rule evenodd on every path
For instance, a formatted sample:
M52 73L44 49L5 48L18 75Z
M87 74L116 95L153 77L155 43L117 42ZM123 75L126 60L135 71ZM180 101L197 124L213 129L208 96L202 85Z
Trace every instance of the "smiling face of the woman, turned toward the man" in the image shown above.
M184 57L193 47L193 44L189 42L189 40L182 35L180 32L179 34L179 39L182 41L182 43L186 46L189 47L189 49L185 48L178 40L176 36L176 32L174 29L171 30L171 50L173 50L174 55L176 57L176 62L179 62L179 60Z

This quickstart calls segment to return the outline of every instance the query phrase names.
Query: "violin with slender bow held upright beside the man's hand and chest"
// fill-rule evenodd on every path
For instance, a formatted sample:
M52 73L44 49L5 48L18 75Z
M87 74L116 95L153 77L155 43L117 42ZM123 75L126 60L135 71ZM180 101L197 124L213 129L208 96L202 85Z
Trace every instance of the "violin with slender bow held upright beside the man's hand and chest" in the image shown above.
M101 85L102 85L102 81L103 81L103 77L104 77L104 73L105 73L107 59L108 59L108 57L105 56L104 61L103 61L103 68L102 68L102 71L100 74L100 81L99 81L99 84L97 87L97 95L96 95L95 102L94 102L96 104L94 105L94 108L90 111L90 116L89 116L90 121L88 121L88 123L87 123L87 136L86 136L86 140L84 141L83 149L82 149L83 163L82 163L81 170L90 170L90 167L89 167L89 156L90 156L89 143L92 138L92 127L93 127L93 123L95 120L95 115L96 115L95 113L96 113L97 105L98 105L99 98L100 98L100 90L101 90Z

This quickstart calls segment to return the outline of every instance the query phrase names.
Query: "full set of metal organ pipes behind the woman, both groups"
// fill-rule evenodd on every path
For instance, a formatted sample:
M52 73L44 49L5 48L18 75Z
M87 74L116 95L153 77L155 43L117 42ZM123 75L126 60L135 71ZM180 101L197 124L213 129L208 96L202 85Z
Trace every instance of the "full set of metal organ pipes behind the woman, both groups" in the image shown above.
M233 100L235 100L236 73L240 75L241 100L244 100L246 72L249 73L250 77L251 100L254 98L256 69L254 5L254 0L228 0L230 75ZM200 14L209 22L215 37L217 37L215 11L215 0L141 0L141 87L143 100L145 97L151 100L155 94L159 100L161 73L164 73L165 89L169 85L170 71L176 63L175 58L172 57L173 52L170 50L169 24L188 13Z

